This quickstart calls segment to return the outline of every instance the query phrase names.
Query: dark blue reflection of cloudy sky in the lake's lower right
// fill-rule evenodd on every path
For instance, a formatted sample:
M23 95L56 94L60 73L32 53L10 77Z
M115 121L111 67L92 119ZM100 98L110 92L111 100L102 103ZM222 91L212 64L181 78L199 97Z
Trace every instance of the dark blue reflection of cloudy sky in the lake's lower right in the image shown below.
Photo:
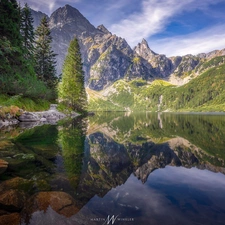
M89 212L96 217L120 215L135 219L118 224L222 225L224 187L225 177L220 173L167 166L150 174L145 184L131 175L104 198L92 198L76 216Z

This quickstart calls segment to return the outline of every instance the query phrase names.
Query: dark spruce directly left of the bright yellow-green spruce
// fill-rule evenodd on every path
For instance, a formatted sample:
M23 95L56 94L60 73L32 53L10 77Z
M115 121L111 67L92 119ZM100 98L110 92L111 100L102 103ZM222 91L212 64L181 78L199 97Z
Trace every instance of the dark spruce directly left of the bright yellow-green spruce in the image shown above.
M44 81L50 88L55 88L58 78L56 76L56 54L51 48L51 31L48 25L47 17L43 17L36 32L35 41L35 71L37 77Z

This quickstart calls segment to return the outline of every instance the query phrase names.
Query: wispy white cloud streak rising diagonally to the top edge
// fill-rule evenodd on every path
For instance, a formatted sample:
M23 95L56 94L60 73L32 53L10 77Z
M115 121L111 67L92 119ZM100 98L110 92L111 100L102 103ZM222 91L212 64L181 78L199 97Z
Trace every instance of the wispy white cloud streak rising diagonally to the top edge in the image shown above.
M184 11L206 10L209 5L221 1L144 0L141 12L129 15L126 19L113 24L109 29L134 46L142 38L147 39L163 31L173 16Z

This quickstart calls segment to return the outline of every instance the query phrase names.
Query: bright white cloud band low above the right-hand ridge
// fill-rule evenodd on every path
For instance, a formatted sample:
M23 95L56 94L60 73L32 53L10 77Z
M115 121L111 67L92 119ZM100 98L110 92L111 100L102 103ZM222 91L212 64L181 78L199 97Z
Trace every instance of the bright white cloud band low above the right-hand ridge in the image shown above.
M201 30L186 36L151 41L153 51L167 56L207 53L225 48L225 25Z

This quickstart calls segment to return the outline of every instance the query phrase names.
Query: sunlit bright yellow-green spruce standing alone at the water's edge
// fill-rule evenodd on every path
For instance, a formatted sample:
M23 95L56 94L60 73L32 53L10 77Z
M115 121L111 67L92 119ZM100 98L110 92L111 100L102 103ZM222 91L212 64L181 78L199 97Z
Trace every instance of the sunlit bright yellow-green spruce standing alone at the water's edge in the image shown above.
M83 64L80 46L76 38L70 42L64 61L59 98L75 111L85 112L87 109Z

